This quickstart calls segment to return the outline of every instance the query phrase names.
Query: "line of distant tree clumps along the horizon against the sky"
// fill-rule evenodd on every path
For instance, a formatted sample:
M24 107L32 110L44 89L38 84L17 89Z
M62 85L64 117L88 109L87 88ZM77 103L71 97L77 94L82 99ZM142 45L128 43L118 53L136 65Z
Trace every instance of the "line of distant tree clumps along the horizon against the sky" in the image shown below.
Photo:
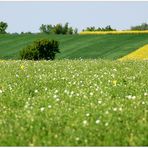
M8 24L6 22L1 21L0 22L0 34L5 34L6 29L8 28ZM62 25L61 23L56 24L56 25L51 25L51 24L42 24L39 28L40 33L46 33L46 34L77 34L78 29L73 28L69 26L69 23L65 23ZM147 23L142 23L140 25L136 26L131 26L129 30L148 30L148 24ZM116 31L116 29L112 28L110 25L106 27L86 27L82 31ZM18 34L18 33L16 33ZM21 34L32 34L31 32L21 32Z

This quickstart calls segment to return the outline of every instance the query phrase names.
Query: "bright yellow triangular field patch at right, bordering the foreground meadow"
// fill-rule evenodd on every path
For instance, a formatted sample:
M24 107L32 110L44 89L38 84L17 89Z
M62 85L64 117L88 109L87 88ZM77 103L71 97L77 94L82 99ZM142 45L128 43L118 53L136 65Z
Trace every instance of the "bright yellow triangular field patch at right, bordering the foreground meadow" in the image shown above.
M119 60L148 60L148 44L120 58Z

